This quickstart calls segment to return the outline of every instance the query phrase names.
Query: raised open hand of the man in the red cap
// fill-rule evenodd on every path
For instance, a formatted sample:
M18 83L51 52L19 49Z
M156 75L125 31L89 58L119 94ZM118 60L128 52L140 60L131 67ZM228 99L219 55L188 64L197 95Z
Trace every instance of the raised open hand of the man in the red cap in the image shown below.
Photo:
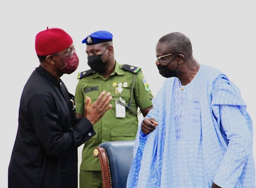
M105 95L106 94L106 95ZM92 104L90 97L86 97L86 105L84 106L84 117L86 117L92 125L97 123L106 111L112 108L110 101L112 96L110 92L102 91L98 99Z

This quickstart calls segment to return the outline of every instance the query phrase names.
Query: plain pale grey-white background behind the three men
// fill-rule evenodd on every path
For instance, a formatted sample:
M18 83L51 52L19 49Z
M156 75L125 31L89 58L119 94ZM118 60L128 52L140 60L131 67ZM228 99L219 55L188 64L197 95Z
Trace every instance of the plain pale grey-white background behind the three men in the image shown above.
M78 71L89 69L81 41L96 30L108 30L114 35L116 60L142 67L154 95L164 81L154 64L155 45L165 34L182 32L190 38L199 63L219 68L240 88L255 125L254 3L252 0L1 1L0 187L7 187L20 95L39 65L34 49L38 32L48 26L62 28L72 36L80 64L75 73L62 77L70 93L75 92ZM254 156L255 130L254 127ZM81 150L82 146L78 148L79 164Z

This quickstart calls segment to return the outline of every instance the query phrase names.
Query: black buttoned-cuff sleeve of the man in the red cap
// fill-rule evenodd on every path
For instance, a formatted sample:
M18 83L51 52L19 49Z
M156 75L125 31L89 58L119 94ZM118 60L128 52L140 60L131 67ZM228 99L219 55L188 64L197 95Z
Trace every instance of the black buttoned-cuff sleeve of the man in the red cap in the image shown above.
M96 133L86 118L80 119L68 131L64 131L64 123L52 97L35 95L28 101L27 111L34 131L45 148L46 153L60 157L88 141Z

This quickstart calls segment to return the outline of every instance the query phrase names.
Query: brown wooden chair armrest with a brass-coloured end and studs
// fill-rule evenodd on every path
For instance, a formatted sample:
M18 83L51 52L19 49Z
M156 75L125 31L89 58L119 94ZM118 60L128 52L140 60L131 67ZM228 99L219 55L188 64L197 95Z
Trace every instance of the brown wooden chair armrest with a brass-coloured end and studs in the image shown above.
M105 149L102 147L96 147L94 148L93 155L98 157L100 160L103 188L112 188L109 160Z

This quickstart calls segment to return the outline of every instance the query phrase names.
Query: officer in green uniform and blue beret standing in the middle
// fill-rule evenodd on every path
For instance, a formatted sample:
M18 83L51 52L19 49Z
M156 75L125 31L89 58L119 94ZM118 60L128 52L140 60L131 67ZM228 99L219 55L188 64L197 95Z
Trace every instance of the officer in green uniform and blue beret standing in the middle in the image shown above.
M145 117L152 109L152 93L140 67L119 64L114 58L112 34L97 31L87 36L86 44L90 70L78 73L76 86L76 115L84 114L86 96L97 99L103 90L111 92L112 109L94 125L96 135L84 144L80 166L80 188L102 187L99 159L93 150L106 141L134 140L138 129L138 114ZM140 112L138 112L138 107Z

